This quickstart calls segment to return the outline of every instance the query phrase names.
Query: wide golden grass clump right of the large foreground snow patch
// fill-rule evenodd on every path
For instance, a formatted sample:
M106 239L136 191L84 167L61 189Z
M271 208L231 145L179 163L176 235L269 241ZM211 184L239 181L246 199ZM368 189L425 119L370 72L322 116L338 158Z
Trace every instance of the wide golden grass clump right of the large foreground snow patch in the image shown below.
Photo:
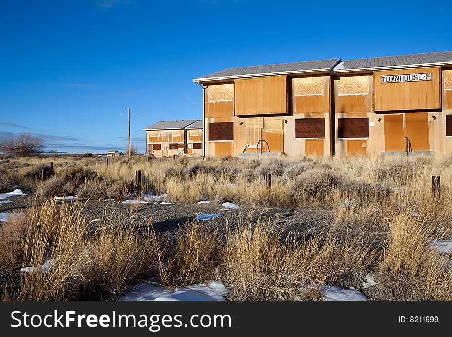
M295 241L275 235L260 222L228 235L221 252L224 279L238 301L318 300L318 286L355 286L375 264L378 253L362 237L334 235Z

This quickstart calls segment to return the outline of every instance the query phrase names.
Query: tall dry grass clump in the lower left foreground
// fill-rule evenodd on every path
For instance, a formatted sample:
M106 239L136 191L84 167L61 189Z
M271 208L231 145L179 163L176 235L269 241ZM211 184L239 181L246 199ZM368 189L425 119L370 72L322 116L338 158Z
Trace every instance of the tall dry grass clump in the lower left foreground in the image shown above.
M18 300L115 299L154 265L155 236L139 235L140 227L124 228L97 219L96 230L80 205L44 203L25 241L25 272ZM31 212L31 215L34 215ZM27 216L21 221L30 224Z

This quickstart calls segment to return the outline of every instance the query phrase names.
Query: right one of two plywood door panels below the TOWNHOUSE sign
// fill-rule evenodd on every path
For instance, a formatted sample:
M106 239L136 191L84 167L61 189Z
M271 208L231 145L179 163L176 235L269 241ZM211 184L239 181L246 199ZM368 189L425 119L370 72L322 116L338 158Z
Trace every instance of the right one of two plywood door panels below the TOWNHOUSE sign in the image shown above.
M405 134L411 141L413 151L429 151L428 113L405 114Z

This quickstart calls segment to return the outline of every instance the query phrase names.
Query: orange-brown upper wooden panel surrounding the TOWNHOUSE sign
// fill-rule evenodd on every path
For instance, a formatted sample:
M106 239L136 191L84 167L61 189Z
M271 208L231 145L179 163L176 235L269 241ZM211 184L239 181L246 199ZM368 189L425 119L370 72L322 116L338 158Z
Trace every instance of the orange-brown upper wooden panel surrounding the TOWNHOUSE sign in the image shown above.
M432 80L381 83L382 76L406 75L408 78L424 73L431 73ZM440 67L374 71L375 111L440 109L440 73Z

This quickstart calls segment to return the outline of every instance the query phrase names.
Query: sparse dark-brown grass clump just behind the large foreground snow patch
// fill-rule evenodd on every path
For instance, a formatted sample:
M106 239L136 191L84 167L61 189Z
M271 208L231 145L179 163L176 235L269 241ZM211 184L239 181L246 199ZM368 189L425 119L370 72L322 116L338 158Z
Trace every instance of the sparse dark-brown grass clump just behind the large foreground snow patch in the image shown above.
M158 254L161 282L168 287L182 287L214 279L218 265L217 232L199 222L186 224L177 242L162 246Z

